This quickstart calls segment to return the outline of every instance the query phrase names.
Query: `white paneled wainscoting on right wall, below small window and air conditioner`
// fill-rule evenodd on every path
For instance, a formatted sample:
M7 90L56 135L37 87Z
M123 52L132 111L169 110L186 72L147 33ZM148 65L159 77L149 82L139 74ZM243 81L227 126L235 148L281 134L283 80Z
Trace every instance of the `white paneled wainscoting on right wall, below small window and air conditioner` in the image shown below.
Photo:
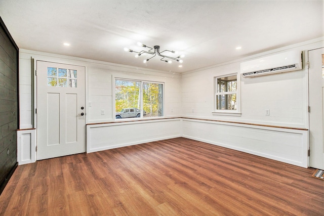
M303 128L183 118L182 137L305 168L309 164L309 133Z

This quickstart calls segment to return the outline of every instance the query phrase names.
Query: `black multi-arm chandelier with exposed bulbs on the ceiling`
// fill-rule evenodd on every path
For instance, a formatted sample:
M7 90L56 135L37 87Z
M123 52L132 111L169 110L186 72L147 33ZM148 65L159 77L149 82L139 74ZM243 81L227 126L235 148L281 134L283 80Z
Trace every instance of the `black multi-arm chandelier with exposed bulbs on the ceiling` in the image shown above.
M143 53L147 53L147 54L153 55L151 58L153 58L153 57L156 56L156 54L157 54L158 56L162 57L162 58L160 59L161 61L163 61L163 62L167 62L167 63L170 63L170 64L172 63L172 61L171 61L170 59L175 60L175 61L180 62L180 63L183 62L183 60L180 59L180 58L183 58L184 55L180 55L180 56L178 56L178 57L171 57L171 56L166 56L166 55L161 54L161 53L166 52L166 51L171 52L171 53L176 53L175 51L165 50L165 51L160 52L160 46L154 46L153 48L151 48L151 47L146 46L145 44L140 44L140 43L138 43L138 45L140 45L140 46L142 46L142 47L145 47L145 48L149 48L150 50L148 50L148 51L142 50L142 51L140 51L140 52L136 52L136 51L130 50L130 49L128 49L128 48L124 48L124 50L125 50L126 52L137 53L137 54L135 55L135 58L138 58L138 57L141 56ZM154 49L154 51L153 51L153 49ZM143 63L148 62L148 60L150 60L151 58L145 59L145 60L143 61ZM167 58L167 59L169 59L169 60L166 60L165 58Z

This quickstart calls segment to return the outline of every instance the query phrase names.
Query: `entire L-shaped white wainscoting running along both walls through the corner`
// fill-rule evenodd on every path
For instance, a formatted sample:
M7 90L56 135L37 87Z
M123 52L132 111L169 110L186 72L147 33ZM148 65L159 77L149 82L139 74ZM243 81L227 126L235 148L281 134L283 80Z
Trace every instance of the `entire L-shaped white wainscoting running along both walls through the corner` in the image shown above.
M165 118L87 125L87 152L184 137L308 167L309 133L304 128Z

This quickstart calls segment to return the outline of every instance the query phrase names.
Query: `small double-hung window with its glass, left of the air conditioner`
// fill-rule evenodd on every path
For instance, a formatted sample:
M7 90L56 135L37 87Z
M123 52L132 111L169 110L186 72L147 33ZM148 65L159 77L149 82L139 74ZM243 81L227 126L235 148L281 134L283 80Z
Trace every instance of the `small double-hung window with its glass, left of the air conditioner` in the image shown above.
M239 114L237 74L215 77L215 112Z

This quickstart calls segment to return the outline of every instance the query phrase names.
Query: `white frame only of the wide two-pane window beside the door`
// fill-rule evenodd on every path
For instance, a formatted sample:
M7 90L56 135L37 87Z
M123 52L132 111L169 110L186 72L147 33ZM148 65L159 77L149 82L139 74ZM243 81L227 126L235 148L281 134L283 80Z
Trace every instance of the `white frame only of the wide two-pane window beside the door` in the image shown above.
M116 94L115 94L115 88L116 88L116 80L125 80L125 81L135 81L140 82L140 106L141 106L141 117L140 118L117 118L116 119ZM154 116L154 117L144 117L143 116L143 82L145 83L156 83L156 84L162 84L163 85L163 115L162 116ZM164 118L165 117L165 83L159 82L159 81L151 81L151 80L144 80L144 79L132 79L132 78L121 78L121 77L114 77L112 76L112 119L115 121L130 121L130 120L142 120L142 119L156 119L156 118Z

